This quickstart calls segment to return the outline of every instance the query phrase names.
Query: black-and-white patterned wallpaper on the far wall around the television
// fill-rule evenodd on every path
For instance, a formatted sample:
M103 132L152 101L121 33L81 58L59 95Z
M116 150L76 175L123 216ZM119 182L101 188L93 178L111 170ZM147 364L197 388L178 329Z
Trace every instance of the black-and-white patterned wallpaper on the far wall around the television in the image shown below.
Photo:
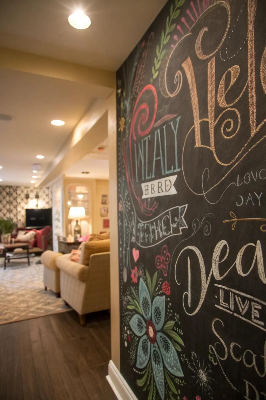
M26 193L29 199L26 200ZM0 218L11 218L18 226L25 226L25 209L36 208L36 189L28 186L0 186ZM38 189L38 208L52 206L49 188Z

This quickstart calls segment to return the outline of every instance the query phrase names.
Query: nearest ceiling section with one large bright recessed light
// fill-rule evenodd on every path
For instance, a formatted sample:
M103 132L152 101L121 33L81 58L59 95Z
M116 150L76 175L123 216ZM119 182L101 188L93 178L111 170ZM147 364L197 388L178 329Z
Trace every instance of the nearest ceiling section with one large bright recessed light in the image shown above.
M0 46L116 71L166 0L1 0ZM82 8L85 30L67 17Z

